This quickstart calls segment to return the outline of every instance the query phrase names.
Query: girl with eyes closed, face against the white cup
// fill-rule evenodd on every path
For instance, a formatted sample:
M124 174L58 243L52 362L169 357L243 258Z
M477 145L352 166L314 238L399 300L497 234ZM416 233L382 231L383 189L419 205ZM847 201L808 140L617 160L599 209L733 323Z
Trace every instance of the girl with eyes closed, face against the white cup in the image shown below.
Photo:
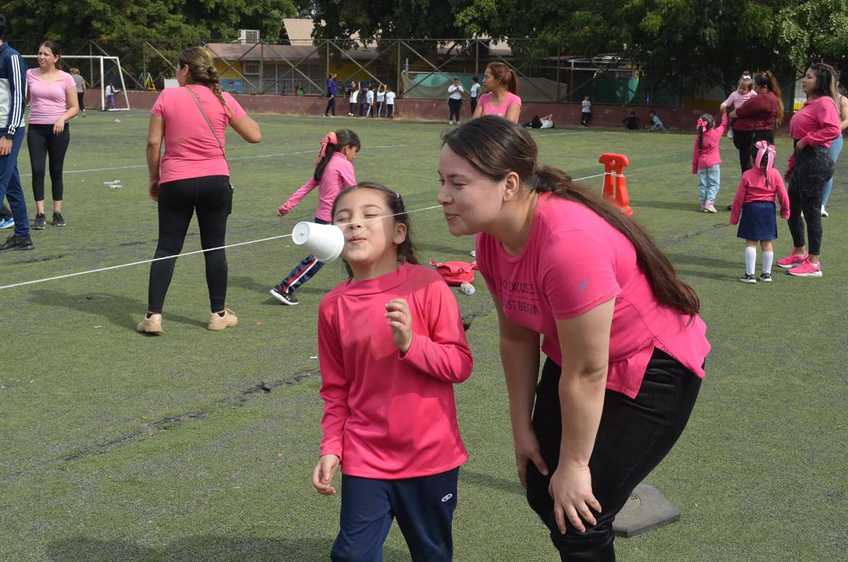
M417 265L399 194L359 183L338 195L332 222L351 277L318 311L324 416L312 475L332 495L342 467L331 558L381 559L396 517L413 559L452 559L457 476L468 458L453 385L472 366L459 308L439 274Z

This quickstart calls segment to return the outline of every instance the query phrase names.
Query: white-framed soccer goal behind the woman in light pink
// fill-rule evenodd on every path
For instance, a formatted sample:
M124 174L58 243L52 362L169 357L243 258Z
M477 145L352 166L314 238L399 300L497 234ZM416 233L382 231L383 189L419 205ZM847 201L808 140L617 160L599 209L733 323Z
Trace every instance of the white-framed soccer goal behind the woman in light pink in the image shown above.
M34 54L21 55L36 61ZM33 65L28 61L27 65ZM118 57L99 55L62 55L62 70L75 68L86 81L86 109L103 111L126 111L130 109L130 97L126 93L124 73ZM111 96L109 96L111 93Z

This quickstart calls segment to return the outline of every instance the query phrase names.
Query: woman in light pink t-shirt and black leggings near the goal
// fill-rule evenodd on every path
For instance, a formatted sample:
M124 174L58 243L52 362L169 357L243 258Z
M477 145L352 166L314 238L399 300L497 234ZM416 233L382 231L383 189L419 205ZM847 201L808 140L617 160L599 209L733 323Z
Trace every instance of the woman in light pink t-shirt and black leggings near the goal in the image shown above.
M45 41L38 47L38 68L26 71L26 99L30 104L30 123L26 148L30 151L32 194L36 198L36 219L32 228L43 230L44 172L50 157L50 187L53 194L53 226L64 227L62 168L70 144L67 122L80 112L76 83L62 67L59 44Z

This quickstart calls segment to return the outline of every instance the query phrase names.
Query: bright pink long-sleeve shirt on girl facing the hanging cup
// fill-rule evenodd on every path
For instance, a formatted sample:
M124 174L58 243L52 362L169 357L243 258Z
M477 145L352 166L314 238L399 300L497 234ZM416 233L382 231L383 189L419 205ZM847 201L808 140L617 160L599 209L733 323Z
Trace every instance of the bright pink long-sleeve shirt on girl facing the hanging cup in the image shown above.
M412 345L394 346L386 303L409 302ZM318 307L321 455L342 472L395 480L437 475L468 458L454 385L471 376L471 351L456 299L428 267L345 281Z

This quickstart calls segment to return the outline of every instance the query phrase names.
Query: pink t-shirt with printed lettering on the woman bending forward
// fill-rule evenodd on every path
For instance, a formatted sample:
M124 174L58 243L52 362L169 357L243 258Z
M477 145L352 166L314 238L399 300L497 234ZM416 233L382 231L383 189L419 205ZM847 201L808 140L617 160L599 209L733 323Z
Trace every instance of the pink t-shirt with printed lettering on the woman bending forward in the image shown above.
M614 298L606 379L611 391L635 397L655 347L704 376L710 351L704 321L658 304L633 244L585 205L539 195L522 253L510 256L498 239L479 233L477 266L506 318L544 335L542 351L559 365L568 358L562 357L556 320Z

